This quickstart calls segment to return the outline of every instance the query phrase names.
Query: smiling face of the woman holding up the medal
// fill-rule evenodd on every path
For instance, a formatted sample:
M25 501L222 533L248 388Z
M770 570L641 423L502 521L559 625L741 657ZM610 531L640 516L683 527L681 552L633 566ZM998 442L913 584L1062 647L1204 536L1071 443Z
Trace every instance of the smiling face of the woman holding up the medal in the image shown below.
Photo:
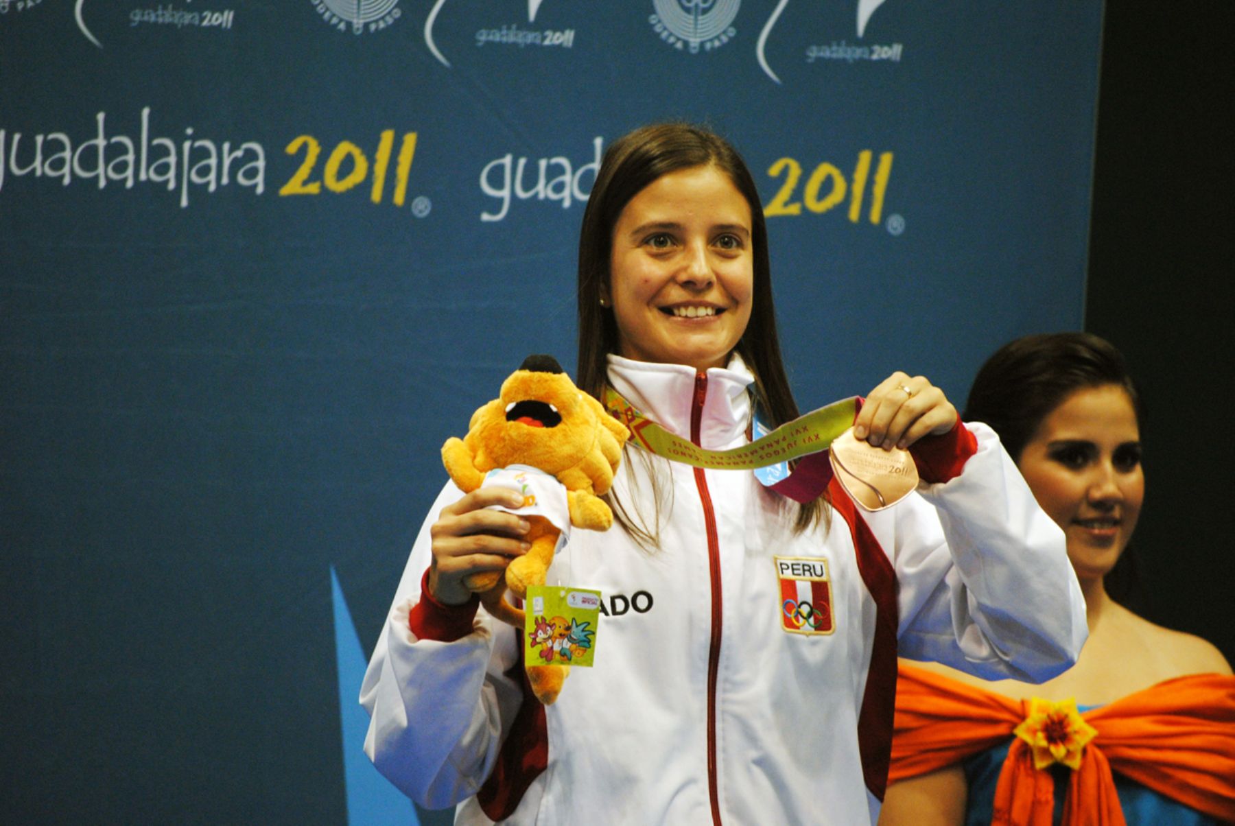
M715 167L671 172L614 226L609 289L619 354L724 367L751 320L751 207Z

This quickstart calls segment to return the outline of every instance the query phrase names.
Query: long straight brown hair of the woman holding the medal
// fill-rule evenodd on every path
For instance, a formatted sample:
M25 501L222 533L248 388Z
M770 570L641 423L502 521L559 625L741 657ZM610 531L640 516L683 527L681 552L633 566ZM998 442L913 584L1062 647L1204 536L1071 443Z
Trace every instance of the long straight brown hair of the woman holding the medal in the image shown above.
M619 352L618 322L613 307L600 305L609 289L613 233L621 211L647 185L673 172L713 167L724 173L751 207L753 290L751 320L735 349L755 374L756 393L771 425L798 417L789 390L776 311L772 304L772 268L768 263L767 225L755 178L737 151L714 132L689 123L653 123L614 141L605 149L579 231L579 358L578 385L600 398L608 382L608 356ZM802 507L798 525L805 527L820 512L819 503ZM619 521L641 540L652 538L629 520ZM653 528L655 532L655 528Z

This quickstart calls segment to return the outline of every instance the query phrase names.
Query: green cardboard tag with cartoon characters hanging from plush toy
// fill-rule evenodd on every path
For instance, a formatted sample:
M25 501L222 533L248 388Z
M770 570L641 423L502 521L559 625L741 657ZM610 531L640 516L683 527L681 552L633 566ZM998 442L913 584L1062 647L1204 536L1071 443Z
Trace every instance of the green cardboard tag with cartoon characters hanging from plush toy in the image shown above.
M592 665L600 591L532 585L524 605L524 657L529 665Z

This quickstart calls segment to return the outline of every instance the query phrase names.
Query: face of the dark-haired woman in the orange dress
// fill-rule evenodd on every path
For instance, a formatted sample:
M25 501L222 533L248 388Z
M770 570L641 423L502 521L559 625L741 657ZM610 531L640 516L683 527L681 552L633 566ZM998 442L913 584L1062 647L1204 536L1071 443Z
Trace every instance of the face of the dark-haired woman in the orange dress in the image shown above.
M1145 498L1141 433L1128 393L1116 384L1076 390L1042 420L1016 464L1067 535L1077 577L1109 572Z

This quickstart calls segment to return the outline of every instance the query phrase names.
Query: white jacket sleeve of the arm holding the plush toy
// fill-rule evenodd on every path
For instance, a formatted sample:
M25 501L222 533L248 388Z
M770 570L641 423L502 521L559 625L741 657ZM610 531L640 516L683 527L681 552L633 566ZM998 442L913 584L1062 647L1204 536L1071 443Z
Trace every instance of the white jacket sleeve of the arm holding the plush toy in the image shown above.
M417 640L408 626L431 559L429 527L462 495L447 485L421 526L361 685L369 714L364 752L427 809L477 793L522 700L519 684L505 677L517 659L514 630L484 610L472 632L453 642Z

